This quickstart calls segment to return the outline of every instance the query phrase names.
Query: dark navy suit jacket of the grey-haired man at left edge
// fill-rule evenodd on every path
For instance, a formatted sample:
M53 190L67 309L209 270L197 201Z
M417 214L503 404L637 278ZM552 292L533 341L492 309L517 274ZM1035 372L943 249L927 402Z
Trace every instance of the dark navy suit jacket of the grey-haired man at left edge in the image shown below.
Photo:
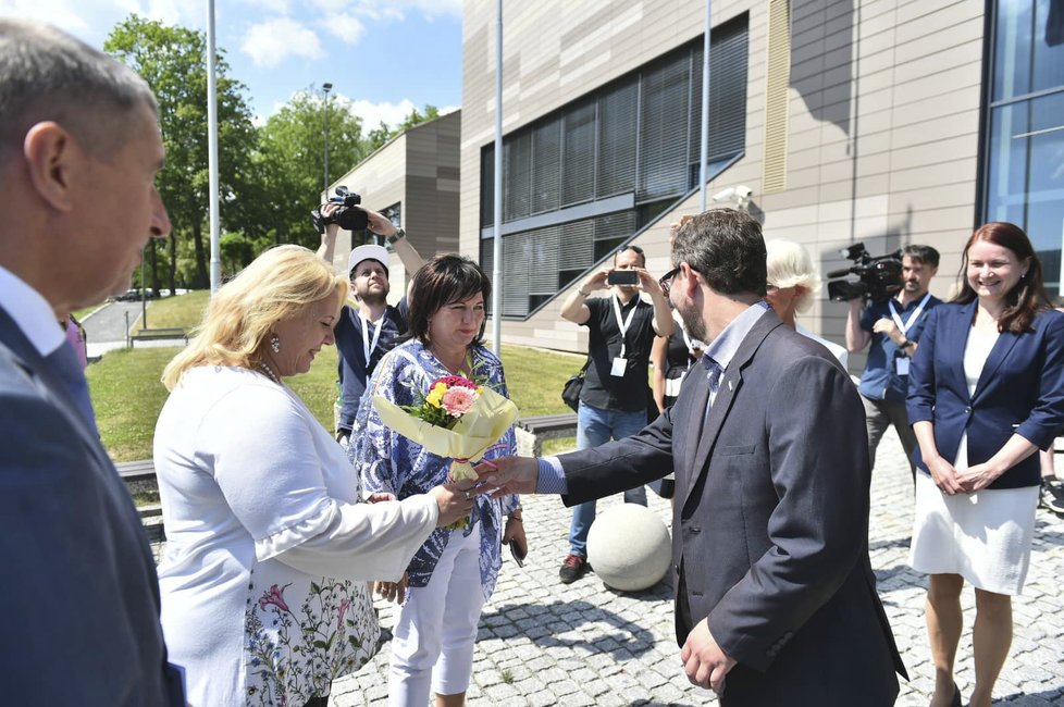
M0 308L0 690L12 705L184 705L140 519L95 430Z

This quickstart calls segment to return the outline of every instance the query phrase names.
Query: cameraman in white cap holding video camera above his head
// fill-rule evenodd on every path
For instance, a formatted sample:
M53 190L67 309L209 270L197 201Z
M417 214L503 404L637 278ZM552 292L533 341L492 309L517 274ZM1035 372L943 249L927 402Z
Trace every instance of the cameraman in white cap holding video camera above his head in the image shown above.
M343 201L331 200L311 215L314 226L322 234L318 256L333 261L336 235L345 230L368 230L384 237L406 268L413 275L424 260L418 253L406 233L397 228L384 215L359 206L358 195L337 187ZM347 261L350 280L350 297L355 307L345 305L336 320L334 334L339 354L341 410L336 424L336 441L345 447L351 434L358 404L366 392L366 381L381 358L395 346L396 339L407 331L407 300L398 307L388 305L388 251L383 246L364 245L351 250ZM412 277L411 277L412 278Z

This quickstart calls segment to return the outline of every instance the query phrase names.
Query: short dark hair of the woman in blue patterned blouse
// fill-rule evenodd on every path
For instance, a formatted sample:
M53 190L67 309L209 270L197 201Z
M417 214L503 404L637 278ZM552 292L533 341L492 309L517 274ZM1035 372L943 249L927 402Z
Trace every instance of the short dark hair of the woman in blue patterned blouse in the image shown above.
M469 299L477 293L484 296L484 303L487 305L492 297L492 281L480 265L457 253L436 256L418 270L410 284L407 322L410 328L406 338L429 344L429 320L432 315L447 305ZM486 324L485 317L473 344L480 345L483 342Z

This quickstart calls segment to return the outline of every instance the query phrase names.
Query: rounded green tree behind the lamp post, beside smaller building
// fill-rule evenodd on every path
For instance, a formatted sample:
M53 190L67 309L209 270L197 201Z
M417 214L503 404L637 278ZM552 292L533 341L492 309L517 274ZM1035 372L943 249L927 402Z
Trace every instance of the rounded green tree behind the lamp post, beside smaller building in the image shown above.
M310 212L319 206L324 179L325 113L320 90L311 86L292 97L259 129L256 169L262 175L276 243L317 248ZM370 153L362 121L343 100L327 102L329 164L339 175ZM331 179L333 177L330 177Z

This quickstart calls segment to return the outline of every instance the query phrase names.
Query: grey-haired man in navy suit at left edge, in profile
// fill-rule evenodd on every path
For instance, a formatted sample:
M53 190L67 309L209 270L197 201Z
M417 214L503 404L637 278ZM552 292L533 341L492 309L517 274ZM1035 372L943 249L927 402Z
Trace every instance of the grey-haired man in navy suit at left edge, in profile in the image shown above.
M156 100L125 65L0 20L0 690L12 705L184 705L140 519L58 322L124 292L149 236Z

